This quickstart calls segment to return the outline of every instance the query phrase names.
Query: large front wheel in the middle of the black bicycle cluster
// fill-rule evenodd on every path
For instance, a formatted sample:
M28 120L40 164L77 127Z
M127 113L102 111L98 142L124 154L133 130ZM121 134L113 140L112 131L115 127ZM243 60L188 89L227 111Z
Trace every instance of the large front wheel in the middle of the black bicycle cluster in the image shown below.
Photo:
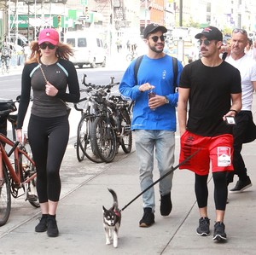
M91 130L91 142L96 155L104 162L111 162L116 154L116 137L113 127L108 124L106 117L97 117Z

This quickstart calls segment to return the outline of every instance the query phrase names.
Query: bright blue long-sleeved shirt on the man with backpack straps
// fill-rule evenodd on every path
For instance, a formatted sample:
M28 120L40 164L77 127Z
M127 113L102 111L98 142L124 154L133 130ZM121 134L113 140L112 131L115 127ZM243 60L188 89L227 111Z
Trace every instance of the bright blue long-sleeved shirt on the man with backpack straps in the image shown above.
M137 72L137 84L134 78L134 66L132 61L125 71L119 85L120 93L135 101L132 113L132 130L172 130L176 131L177 93L174 92L172 57L165 55L160 59L150 59L144 55L143 61ZM177 84L183 66L177 61ZM157 107L154 111L148 107L148 91L138 90L141 84L154 85L154 92L159 96L167 96L169 103Z

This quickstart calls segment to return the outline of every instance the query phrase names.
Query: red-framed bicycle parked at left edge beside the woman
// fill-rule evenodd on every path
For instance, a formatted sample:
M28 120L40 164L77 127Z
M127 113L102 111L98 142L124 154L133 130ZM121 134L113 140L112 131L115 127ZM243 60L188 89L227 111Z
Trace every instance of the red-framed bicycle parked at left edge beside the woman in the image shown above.
M0 119L8 119L9 114L16 111L15 101L7 101L7 104L8 109L0 110ZM26 152L26 145L0 133L0 226L9 219L11 196L19 198L24 195L32 206L39 207L36 166Z

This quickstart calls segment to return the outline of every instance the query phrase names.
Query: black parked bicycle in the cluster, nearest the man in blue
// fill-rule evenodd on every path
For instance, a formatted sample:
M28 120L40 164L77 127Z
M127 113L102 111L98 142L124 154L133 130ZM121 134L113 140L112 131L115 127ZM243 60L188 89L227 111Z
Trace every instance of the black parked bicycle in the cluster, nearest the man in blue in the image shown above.
M113 87L113 78L111 84ZM111 87L111 88L112 88ZM91 143L96 155L104 162L111 162L118 153L119 145L125 153L131 152L131 119L129 103L121 96L97 96L100 112L92 125Z

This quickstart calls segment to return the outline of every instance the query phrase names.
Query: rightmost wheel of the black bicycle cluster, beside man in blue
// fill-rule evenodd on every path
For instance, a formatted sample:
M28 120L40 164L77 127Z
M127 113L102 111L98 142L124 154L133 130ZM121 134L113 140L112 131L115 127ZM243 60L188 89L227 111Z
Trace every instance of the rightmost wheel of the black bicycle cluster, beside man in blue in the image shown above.
M132 147L131 118L129 113L125 109L122 109L120 113L120 123L122 126L123 134L123 137L121 139L121 147L125 154L130 154Z

